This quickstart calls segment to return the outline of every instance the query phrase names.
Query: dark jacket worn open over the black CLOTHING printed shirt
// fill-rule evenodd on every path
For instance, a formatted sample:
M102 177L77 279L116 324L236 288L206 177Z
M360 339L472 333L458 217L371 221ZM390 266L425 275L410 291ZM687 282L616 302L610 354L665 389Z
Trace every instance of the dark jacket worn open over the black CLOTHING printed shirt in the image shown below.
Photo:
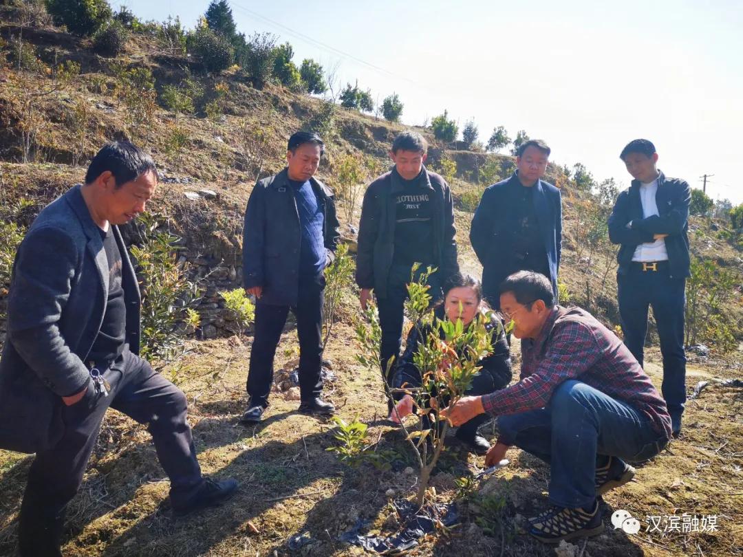
M433 263L444 284L459 272L452 192L446 180L435 172L424 168L424 176L424 187L434 192L431 221L436 261ZM378 298L386 297L387 278L395 255L394 194L398 191L393 186L392 172L387 172L369 184L361 207L356 284L360 288L373 288Z

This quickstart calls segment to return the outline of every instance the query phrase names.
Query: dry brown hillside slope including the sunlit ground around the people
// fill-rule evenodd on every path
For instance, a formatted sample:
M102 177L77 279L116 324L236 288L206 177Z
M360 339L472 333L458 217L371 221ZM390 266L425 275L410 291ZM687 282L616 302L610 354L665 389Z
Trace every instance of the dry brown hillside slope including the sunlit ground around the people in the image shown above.
M244 380L250 338L227 337L220 328L223 302L217 290L241 284L241 229L244 206L256 177L283 166L285 141L299 128L324 131L328 143L319 178L339 195L343 233L352 241L360 212L363 184L352 187L339 180L345 157L362 161L363 181L389 165L386 152L402 129L374 117L335 107L322 100L293 94L276 85L251 87L238 72L220 76L204 72L186 57L164 56L146 36L133 36L125 56L104 59L85 39L53 27L25 27L23 36L45 66L18 71L11 65L8 46L19 33L16 23L0 21L5 39L0 62L0 211L4 220L27 226L46 203L82 180L85 164L100 145L113 137L131 137L152 152L160 167L160 186L152 211L163 227L183 238L182 255L191 276L208 276L200 337L224 338L186 342L187 353L162 372L178 382L189 397L195 443L204 471L233 475L241 488L230 504L185 521L173 521L166 502L167 483L146 431L114 411L109 413L97 441L85 484L71 505L66 554L74 556L235 556L235 555L360 555L357 547L338 540L358 518L371 528L391 532L396 525L391 498L408 495L415 477L400 433L383 420L386 405L380 378L354 360L352 317L354 287L345 293L341 321L326 356L334 380L328 396L346 420L369 424L369 450L392 455L391 469L365 465L352 469L327 452L334 444L329 425L296 414L296 401L276 392L262 426L244 429L237 420L244 408ZM28 62L28 61L27 61ZM43 68L64 62L80 71L61 79ZM29 64L33 66L33 64ZM204 91L194 114L178 114L160 105L143 106L132 94L146 97L137 81L146 70L154 79L155 98L165 85L198 82ZM137 73L138 72L138 73ZM138 76L138 77L137 77ZM149 79L149 78L148 78ZM146 81L146 79L145 79ZM226 90L223 97L219 91ZM144 92L144 93L143 93ZM220 112L207 117L205 106L218 99ZM160 101L158 101L160 102ZM146 110L146 120L137 111ZM513 159L502 155L452 151L432 141L429 165L437 171L452 167L461 265L479 275L481 267L468 235L473 200L486 184L478 177L488 164L495 179L513 170ZM30 142L30 143L29 143ZM559 159L559 153L555 156ZM22 162L24 157L27 162ZM588 307L611 328L618 325L615 301L614 248L593 241L602 210L597 198L577 187L559 166L551 165L548 180L562 189L564 240L562 296ZM492 181L492 180L491 180ZM357 197L354 198L353 190ZM200 190L210 193L199 194ZM213 192L213 194L212 194ZM351 206L353 211L351 211ZM345 217L348 212L350 218ZM603 222L603 221L601 221ZM137 237L134 228L129 237ZM725 233L723 233L725 232ZM716 315L743 339L741 251L729 241L723 221L692 218L692 252L715 261L718 269L736 278ZM593 244L591 244L593 245ZM0 285L1 288L1 285ZM5 293L0 290L0 313ZM208 305L208 307L207 307ZM212 307L213 306L213 307ZM207 329L207 326L212 327ZM0 334L1 334L0 323ZM213 330L212 330L213 329ZM654 339L650 339L654 345ZM713 349L716 345L713 344ZM297 354L293 325L282 337L276 361L292 368ZM514 346L514 354L518 353ZM689 385L710 379L741 377L742 354L712 356L690 353ZM649 348L649 374L662 380L661 356ZM278 385L277 385L278 388ZM713 385L691 402L685 434L661 457L640 469L637 481L606 497L606 532L580 544L584 556L740 555L743 519L743 398L733 387ZM487 428L485 428L487 431ZM524 516L545 502L548 469L528 455L511 450L512 465L489 481L478 481L463 493L457 482L481 469L483 459L452 446L434 485L444 501L457 500L462 524L421 541L415 555L548 556L548 549L523 535ZM12 551L14 528L30 457L0 451L0 554ZM715 515L716 532L640 532L634 536L613 530L609 516L628 509L646 516ZM643 524L645 524L643 522ZM294 535L308 535L302 547ZM305 540L306 541L306 540ZM577 555L577 553L565 553Z

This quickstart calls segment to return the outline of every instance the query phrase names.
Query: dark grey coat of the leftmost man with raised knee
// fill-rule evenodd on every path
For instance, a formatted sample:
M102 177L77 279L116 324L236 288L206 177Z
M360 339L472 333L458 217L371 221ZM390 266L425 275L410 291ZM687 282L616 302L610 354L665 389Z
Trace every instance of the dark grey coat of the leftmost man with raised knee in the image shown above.
M121 234L126 342L137 354L140 293ZM108 260L100 229L74 186L39 213L13 263L0 359L0 448L38 452L62 436L62 398L82 391L85 358L103 323Z

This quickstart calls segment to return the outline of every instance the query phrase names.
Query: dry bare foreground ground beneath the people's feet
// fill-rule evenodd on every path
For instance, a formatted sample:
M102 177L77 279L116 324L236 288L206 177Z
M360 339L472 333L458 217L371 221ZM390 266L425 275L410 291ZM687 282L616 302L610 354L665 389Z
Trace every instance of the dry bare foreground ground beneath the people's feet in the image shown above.
M276 369L296 357L289 328ZM238 424L250 339L192 342L189 353L163 374L189 397L198 457L204 472L240 481L224 506L175 520L168 482L149 434L110 411L80 494L68 513L69 556L271 556L360 555L339 541L359 518L371 532L398 529L390 501L415 492L415 464L400 431L385 420L380 377L354 362L353 331L337 325L326 353L335 378L325 392L345 420L369 425L369 449L389 466L351 468L328 447L332 424L296 412L291 395L272 395L260 426ZM647 369L656 385L660 356L650 351ZM736 369L737 368L737 369ZM739 365L690 362L688 384L736 377ZM710 385L691 400L684 433L642 466L635 481L605 496L606 531L564 556L730 556L743 550L743 391ZM483 430L490 434L490 426ZM545 504L548 469L519 449L510 466L483 481L471 478L483 459L451 443L433 478L440 501L456 501L461 524L421 539L411 555L549 556L551 547L524 535L519 524ZM16 515L31 457L0 452L0 554L12 555ZM623 509L640 521L637 534L611 524ZM703 531L704 530L704 531ZM291 538L304 535L291 544ZM299 547L301 546L301 547ZM293 547L294 549L291 549Z

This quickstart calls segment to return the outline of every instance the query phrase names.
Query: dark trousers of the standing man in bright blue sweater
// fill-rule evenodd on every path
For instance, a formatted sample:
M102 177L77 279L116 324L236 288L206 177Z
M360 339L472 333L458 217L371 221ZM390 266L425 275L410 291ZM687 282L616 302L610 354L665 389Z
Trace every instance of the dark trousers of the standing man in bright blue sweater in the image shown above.
M273 382L273 356L279 345L289 310L296 317L299 336L299 394L302 400L319 397L322 391L322 307L325 302L325 276L299 280L296 306L256 304L256 333L250 348L247 394L250 405L268 405Z

